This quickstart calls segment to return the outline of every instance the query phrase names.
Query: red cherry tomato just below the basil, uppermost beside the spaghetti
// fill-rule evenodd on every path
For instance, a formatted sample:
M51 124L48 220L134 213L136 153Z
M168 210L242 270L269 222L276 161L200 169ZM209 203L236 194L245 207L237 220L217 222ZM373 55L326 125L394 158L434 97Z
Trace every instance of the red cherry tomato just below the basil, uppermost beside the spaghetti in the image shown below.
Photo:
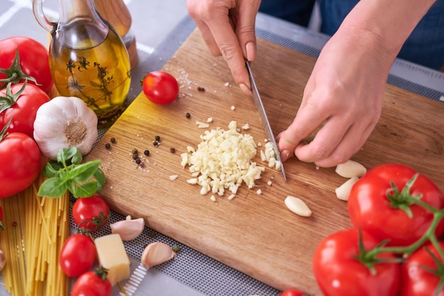
M72 207L72 218L80 229L99 230L110 216L109 205L97 194L91 197L80 197Z

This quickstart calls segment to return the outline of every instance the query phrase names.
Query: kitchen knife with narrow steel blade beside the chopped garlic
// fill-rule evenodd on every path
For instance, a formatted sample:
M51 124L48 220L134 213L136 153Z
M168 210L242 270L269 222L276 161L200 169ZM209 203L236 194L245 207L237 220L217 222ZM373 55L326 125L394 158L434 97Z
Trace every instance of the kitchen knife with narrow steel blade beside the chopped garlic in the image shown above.
M228 18L230 19L230 24L233 27L233 30L235 31L237 18L236 18L235 11L233 9L230 9L228 11ZM272 127L270 126L270 121L268 121L267 112L265 112L264 104L262 103L262 99L260 98L259 89L257 89L257 84L255 81L255 77L252 75L252 70L250 67L250 62L248 60L245 60L245 65L248 70L248 75L250 76L250 84L251 84L251 92L252 92L252 98L255 101L255 105L257 108L257 111L259 111L260 121L262 121L262 125L265 129L265 134L267 135L267 140L272 143L273 150L274 150L274 157L276 160L281 163L281 172L284 176L284 180L287 180L287 175L285 175L284 170L284 163L282 163L279 150L277 149L277 143L274 139Z

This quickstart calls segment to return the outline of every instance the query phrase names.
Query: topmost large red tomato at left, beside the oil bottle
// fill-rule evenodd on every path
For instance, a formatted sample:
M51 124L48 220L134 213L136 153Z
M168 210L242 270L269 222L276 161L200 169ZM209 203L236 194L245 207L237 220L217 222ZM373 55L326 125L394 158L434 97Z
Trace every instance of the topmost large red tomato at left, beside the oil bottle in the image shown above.
M43 92L49 94L54 82L52 82L48 49L38 41L27 37L18 36L0 40L0 68L5 70L11 67L16 57L16 48L20 57L21 71L23 71L25 75L34 77L38 83L38 87L43 89ZM17 73L17 71L17 69L13 70L15 73ZM11 77L11 75L13 75L13 73L7 73L7 75L5 75L0 72L0 80ZM19 81L23 82L22 78L23 77L20 77ZM19 81L14 80L13 83ZM1 82L0 88L2 88Z

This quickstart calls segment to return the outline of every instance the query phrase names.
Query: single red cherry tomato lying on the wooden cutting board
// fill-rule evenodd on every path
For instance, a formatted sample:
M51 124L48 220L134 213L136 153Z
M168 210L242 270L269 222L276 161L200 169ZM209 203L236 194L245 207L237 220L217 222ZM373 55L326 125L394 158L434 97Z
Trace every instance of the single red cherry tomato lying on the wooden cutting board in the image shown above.
M170 104L179 94L179 83L168 72L153 71L142 82L145 96L155 104Z

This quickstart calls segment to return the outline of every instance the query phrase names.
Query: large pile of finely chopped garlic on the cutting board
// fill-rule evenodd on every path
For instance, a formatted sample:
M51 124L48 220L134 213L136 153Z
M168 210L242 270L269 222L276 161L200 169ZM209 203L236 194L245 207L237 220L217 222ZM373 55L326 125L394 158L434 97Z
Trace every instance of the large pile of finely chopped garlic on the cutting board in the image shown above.
M197 150L189 146L189 153L181 154L182 167L189 165L192 172L187 182L201 185L201 194L222 196L226 189L235 194L243 182L252 188L265 170L251 161L257 152L252 136L239 133L236 121L228 128L205 131Z

